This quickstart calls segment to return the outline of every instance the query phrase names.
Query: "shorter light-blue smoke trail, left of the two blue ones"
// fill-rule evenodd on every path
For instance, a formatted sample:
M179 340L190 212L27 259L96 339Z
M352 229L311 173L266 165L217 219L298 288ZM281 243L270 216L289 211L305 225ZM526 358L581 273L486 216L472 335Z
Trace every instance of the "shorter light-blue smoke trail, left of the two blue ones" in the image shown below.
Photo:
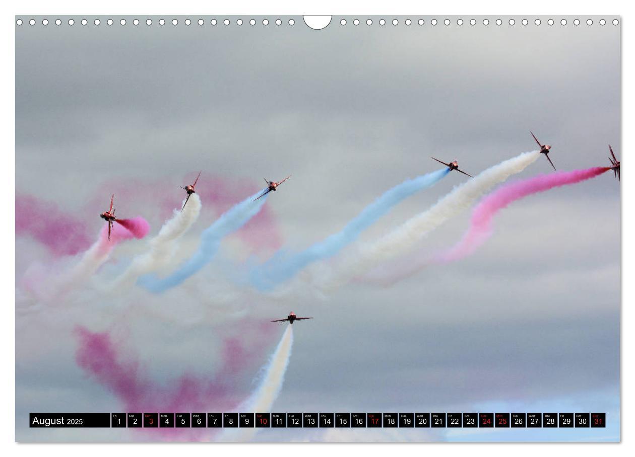
M206 228L203 233L201 233L201 245L198 250L190 257L189 261L185 262L177 271L167 278L159 278L156 274L145 274L137 280L137 284L150 292L161 293L174 286L178 286L187 280L187 278L197 273L211 261L218 247L220 247L220 241L222 241L225 236L231 235L244 226L251 217L258 214L258 211L260 211L262 205L265 204L269 194L259 198L255 202L253 200L263 191L264 190L260 190L242 202L236 203L236 205L218 217L217 221Z

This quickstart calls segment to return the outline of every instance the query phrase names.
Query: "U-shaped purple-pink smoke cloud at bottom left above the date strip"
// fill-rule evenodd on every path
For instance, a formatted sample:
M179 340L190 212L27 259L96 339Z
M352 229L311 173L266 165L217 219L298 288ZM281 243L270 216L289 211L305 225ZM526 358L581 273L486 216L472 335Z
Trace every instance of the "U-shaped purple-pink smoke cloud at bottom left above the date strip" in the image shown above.
M76 328L79 347L76 363L91 377L115 394L128 413L207 413L230 411L239 403L233 389L243 372L258 363L272 334L271 327L253 322L236 323L241 331L257 334L258 345L244 338L225 337L222 363L213 377L201 378L185 374L167 385L150 380L133 354L126 354L109 331L93 332ZM147 430L146 430L147 431ZM148 432L163 439L194 441L209 432L196 428L159 428Z

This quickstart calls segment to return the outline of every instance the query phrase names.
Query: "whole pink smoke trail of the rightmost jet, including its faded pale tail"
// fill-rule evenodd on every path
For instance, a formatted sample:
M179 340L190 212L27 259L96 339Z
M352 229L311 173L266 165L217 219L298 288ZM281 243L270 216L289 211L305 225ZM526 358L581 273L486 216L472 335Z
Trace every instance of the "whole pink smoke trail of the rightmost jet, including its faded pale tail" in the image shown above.
M556 172L500 186L474 207L469 229L453 247L432 257L421 251L415 252L415 254L374 269L363 278L359 278L359 281L387 287L412 276L431 264L445 264L463 259L471 255L490 238L493 232L491 224L494 216L510 203L538 192L591 179L608 170L610 170L608 167L595 167L586 170Z

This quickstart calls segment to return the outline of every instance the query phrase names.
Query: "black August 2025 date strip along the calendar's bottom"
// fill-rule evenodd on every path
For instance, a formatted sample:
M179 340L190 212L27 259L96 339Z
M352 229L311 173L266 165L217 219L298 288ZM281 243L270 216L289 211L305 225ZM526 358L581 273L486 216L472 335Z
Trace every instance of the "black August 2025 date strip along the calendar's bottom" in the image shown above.
M605 428L606 413L29 413L31 428Z

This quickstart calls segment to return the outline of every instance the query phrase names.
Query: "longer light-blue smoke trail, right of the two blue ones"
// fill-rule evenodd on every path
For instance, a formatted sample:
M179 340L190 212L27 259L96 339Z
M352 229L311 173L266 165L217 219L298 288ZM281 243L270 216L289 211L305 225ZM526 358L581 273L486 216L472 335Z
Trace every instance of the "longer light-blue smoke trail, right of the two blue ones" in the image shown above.
M438 183L449 172L449 168L444 168L415 177L415 179L408 179L408 181L404 181L391 190L386 191L375 202L364 208L355 219L346 224L338 233L334 233L323 241L290 257L284 258L283 254L278 252L269 261L251 269L251 284L260 290L267 290L293 278L300 270L312 262L337 254L347 244L355 241L365 229L384 216L394 205L417 191L424 190Z

